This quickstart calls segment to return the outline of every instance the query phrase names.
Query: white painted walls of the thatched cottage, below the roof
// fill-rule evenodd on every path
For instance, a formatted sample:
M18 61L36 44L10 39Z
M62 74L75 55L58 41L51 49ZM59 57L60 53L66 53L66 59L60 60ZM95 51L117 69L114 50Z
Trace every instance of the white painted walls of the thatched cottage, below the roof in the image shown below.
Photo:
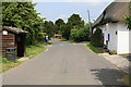
M116 50L118 54L131 53L131 32L127 29L124 23L108 23L106 25L102 25L100 29L103 29L103 33L105 35L105 45L106 40L108 40L108 34L110 34L110 41L108 42L109 50Z

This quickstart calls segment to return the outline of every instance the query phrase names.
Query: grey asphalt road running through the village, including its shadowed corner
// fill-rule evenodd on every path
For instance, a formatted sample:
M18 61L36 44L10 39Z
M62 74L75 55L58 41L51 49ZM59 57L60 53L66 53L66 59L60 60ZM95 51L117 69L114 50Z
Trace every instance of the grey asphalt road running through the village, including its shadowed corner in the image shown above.
M83 44L51 40L52 47L3 74L3 85L122 85L111 63Z

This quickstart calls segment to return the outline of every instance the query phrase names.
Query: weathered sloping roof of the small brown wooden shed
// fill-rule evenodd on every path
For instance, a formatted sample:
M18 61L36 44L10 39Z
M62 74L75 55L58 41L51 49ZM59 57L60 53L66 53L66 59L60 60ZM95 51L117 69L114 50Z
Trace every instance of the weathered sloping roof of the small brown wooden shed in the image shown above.
M7 29L7 30L13 32L15 34L27 34L28 33L28 32L23 30L21 28L10 27L10 26L3 26L2 29Z

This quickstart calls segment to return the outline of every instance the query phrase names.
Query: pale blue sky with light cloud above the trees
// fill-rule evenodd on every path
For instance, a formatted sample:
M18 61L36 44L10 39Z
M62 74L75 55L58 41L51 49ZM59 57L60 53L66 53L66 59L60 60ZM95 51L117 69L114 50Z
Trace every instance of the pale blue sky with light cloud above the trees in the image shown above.
M33 3L37 3L35 10L40 13L40 17L46 17L46 21L52 21L53 23L58 18L62 18L64 22L72 14L80 14L85 23L88 22L87 10L90 10L91 21L94 22L102 12L112 2L111 0L57 0L57 1L43 1L34 0Z

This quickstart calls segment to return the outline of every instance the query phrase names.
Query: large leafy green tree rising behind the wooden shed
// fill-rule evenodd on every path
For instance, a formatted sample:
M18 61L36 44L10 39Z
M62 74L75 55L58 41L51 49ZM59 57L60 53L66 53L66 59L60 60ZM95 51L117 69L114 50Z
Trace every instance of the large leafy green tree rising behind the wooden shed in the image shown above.
M27 45L36 44L39 40L38 34L44 29L44 22L34 9L36 4L32 2L3 2L2 3L2 25L19 27L29 32L27 34Z

